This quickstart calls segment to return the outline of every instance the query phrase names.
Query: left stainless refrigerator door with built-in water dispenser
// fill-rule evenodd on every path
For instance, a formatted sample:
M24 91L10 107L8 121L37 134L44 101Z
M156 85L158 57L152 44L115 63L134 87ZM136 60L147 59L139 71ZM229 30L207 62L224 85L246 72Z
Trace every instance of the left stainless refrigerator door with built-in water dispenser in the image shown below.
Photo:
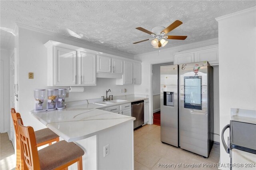
M161 141L179 146L178 65L160 67Z

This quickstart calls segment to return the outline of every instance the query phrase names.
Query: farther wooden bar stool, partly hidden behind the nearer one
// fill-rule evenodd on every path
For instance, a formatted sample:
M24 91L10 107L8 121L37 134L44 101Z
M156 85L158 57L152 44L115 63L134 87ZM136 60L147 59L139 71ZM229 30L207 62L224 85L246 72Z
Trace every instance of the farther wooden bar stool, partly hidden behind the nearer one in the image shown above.
M20 163L21 163L21 150L20 150L20 137L19 137L19 130L17 125L17 118L20 117L20 113L16 113L15 109L11 109L11 115L12 115L12 121L14 125L15 130L15 136L16 136L16 170L20 169ZM36 135L36 146L43 146L45 144L52 144L52 142L58 142L59 136L52 132L49 128L44 128L41 130L35 131Z

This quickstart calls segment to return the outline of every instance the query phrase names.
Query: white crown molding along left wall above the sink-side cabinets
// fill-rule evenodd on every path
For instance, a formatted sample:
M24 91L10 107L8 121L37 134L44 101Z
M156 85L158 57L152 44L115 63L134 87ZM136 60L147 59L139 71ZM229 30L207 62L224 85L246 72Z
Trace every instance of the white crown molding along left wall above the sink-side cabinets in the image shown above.
M88 44L88 43L84 42L83 40L76 39L76 38L69 38L69 37L63 36L63 35L58 34L58 33L53 33L53 32L49 32L49 31L46 31L46 30L42 30L42 29L40 29L40 28L34 28L34 27L32 27L32 26L27 26L27 25L20 24L20 23L16 23L16 25L18 26L18 28L23 28L23 29L26 29L26 30L30 30L30 31L34 31L34 32L42 33L42 34L47 34L47 35L49 35L49 36L58 36L58 37L61 37L61 38L66 39L66 40L71 40L71 41L83 43L83 44L87 45L88 47L94 47L94 48L104 49L104 50L106 50L106 51L112 52L113 55L121 54L121 55L124 55L124 56L126 56L126 57L128 57L128 58L133 58L133 57L134 57L134 55L132 55L132 54L130 54L130 53L125 53L125 52L122 52L122 51L118 51L118 50L106 48L106 47L103 47L103 46L101 46L101 45ZM100 52L106 53L106 51L105 51L105 52L104 52L104 51L100 51Z

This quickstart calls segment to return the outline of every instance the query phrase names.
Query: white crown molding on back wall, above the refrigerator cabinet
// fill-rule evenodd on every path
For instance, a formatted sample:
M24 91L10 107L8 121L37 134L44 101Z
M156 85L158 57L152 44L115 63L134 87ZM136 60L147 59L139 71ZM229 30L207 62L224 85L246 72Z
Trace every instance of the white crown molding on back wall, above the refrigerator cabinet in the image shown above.
M201 41L201 42L194 42L194 43L188 43L188 44L185 44L185 45L179 45L179 46L175 46L175 47L165 48L165 49L161 49L160 51L169 51L169 50L174 50L174 49L178 49L178 48L189 47L191 45L201 45L201 44L211 43L211 42L218 44L218 38L213 38L213 39L204 40L204 41ZM147 55L147 54L152 54L152 53L158 53L158 51L151 51L151 52L147 52L147 53L137 54L137 55L134 55L134 59L136 57L139 57L139 56L142 56L142 55Z

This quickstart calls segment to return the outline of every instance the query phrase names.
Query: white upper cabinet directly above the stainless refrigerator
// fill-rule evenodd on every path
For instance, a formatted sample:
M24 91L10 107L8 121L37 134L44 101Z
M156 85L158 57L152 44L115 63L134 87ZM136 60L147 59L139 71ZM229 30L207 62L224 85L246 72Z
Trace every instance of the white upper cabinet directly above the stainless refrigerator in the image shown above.
M199 61L208 61L210 65L218 65L218 45L210 45L174 54L174 64L193 63Z

